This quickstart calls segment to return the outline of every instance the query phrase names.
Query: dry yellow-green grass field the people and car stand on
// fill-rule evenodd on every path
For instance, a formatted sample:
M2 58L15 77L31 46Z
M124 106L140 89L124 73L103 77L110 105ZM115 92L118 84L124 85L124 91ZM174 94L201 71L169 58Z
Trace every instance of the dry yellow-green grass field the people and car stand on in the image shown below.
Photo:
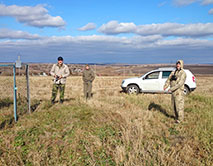
M8 79L0 77L4 118L13 114L5 99L12 92L1 84ZM51 105L52 78L31 77L36 108L0 129L0 165L212 165L213 77L197 77L181 124L174 123L170 95L120 93L123 79L96 77L86 101L81 77L69 77L64 104Z

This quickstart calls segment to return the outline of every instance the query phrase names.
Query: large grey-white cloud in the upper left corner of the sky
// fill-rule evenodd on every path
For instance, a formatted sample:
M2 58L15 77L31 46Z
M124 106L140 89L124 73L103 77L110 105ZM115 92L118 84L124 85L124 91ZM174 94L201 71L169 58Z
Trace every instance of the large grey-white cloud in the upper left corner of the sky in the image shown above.
M43 5L31 7L0 4L0 16L14 17L20 23L39 28L63 27L66 24L60 16L49 15L48 10Z

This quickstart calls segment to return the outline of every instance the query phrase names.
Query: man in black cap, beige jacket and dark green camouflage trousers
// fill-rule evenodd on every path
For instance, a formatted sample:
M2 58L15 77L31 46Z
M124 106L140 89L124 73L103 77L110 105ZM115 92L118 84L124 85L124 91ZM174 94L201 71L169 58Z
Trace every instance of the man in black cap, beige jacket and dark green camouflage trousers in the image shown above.
M59 90L60 103L63 103L66 78L70 75L70 70L68 66L63 63L62 57L58 57L58 63L53 65L50 74L54 77L51 102L54 104Z

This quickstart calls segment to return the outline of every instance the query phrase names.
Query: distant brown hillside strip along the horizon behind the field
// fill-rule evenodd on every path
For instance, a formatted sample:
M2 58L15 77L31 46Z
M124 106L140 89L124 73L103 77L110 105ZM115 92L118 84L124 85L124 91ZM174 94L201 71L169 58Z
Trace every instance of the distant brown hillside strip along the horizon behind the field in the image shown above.
M52 63L30 63L30 75L49 75ZM73 76L81 75L85 64L67 64ZM98 76L140 76L159 67L174 67L174 64L92 64L90 66ZM184 66L195 75L213 75L213 64L187 64ZM17 70L20 74L24 68ZM0 67L0 75L12 75L11 67Z

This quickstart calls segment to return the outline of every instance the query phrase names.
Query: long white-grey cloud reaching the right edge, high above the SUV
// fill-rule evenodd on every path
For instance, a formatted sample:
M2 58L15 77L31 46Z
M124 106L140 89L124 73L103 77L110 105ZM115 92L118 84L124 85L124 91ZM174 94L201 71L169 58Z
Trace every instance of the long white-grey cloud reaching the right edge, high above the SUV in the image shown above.
M118 23L110 21L102 25L99 31L104 34L134 33L142 36L162 35L162 36L185 36L185 37L205 37L213 35L213 23L197 24L148 24L136 26L133 23Z

